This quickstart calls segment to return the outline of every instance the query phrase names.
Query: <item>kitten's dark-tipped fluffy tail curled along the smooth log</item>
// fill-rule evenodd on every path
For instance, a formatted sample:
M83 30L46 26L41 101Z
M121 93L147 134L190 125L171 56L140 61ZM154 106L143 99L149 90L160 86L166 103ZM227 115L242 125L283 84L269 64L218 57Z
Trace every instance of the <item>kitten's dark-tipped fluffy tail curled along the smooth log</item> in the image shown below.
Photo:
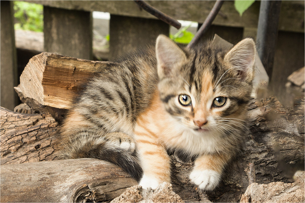
M73 139L63 144L58 159L96 158L120 166L131 177L139 181L143 175L136 151L129 152L117 148L104 137L92 136L88 131L77 133Z

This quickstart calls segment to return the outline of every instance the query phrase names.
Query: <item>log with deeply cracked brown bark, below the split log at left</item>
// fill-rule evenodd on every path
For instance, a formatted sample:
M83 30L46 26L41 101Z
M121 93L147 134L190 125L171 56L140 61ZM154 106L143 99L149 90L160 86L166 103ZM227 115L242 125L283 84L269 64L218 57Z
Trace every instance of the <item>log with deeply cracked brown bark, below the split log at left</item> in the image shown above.
M51 114L21 114L1 107L0 122L1 165L55 158L60 141Z

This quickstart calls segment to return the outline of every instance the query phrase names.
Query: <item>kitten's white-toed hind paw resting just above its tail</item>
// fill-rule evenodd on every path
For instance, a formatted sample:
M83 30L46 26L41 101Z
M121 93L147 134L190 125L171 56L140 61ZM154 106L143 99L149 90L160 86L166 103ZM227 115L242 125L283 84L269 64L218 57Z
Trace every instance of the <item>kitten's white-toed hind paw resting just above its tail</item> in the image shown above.
M120 132L113 132L107 134L107 139L114 146L124 151L134 152L135 151L135 140L129 135Z

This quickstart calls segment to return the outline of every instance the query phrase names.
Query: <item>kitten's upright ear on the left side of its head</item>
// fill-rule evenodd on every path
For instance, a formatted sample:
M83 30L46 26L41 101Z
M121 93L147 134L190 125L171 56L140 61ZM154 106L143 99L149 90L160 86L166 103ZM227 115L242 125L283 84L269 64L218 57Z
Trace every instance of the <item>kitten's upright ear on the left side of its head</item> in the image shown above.
M160 79L168 77L183 61L185 53L165 35L159 35L156 40L157 70Z

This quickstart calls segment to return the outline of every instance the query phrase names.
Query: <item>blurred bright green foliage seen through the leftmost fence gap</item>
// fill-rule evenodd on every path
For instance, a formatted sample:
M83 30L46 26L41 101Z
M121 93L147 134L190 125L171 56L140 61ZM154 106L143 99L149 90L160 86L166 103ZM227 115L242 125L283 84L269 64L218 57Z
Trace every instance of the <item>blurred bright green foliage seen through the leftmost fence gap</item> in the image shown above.
M14 1L15 29L43 31L43 6L40 4Z

